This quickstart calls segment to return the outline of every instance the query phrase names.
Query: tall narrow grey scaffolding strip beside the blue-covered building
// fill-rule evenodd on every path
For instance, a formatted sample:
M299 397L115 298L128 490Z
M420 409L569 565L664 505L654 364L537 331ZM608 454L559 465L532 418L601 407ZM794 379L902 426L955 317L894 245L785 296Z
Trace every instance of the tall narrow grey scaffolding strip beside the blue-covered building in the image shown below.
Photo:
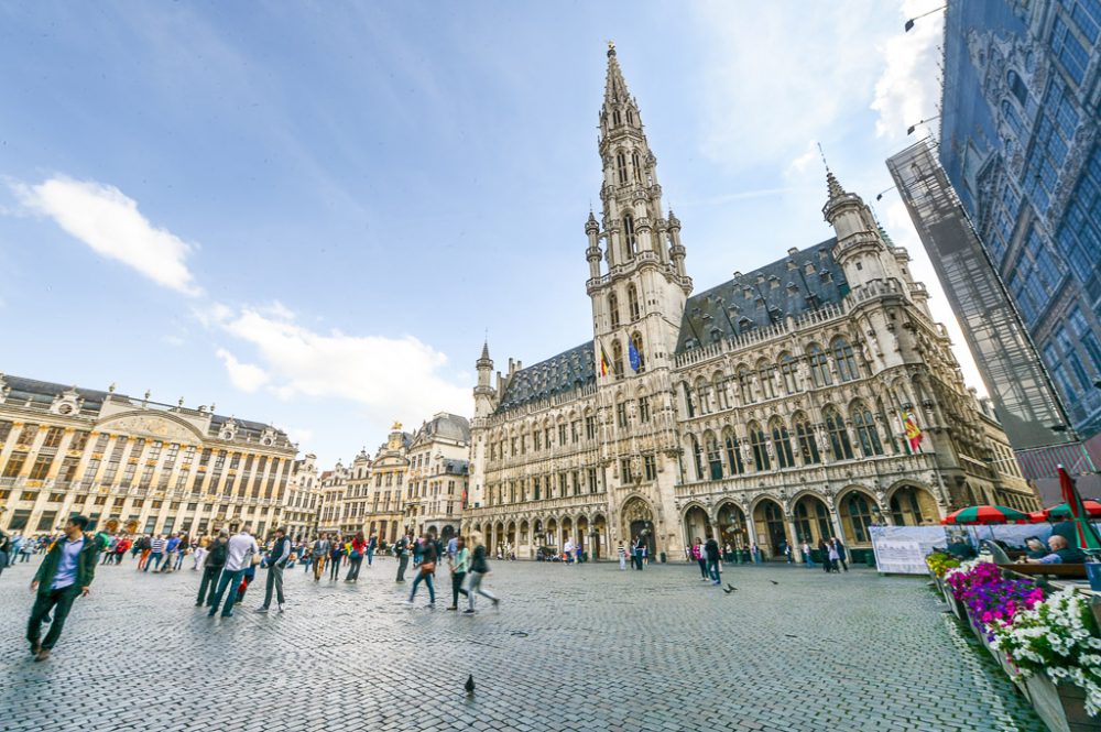
M893 155L887 168L960 320L1010 443L1020 455L1066 446L1068 437L1077 441L1051 429L1070 423L930 141Z

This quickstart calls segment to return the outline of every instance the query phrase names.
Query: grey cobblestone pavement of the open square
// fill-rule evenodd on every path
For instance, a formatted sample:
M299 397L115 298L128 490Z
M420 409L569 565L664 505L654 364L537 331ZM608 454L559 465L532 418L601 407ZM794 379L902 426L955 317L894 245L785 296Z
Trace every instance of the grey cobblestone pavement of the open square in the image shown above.
M0 730L1043 729L917 578L730 567L727 594L695 565L491 564L500 612L447 612L449 589L403 607L383 559L358 584L287 570L283 615L251 612L261 570L211 620L198 572L128 559L99 568L45 663L17 566L0 577Z

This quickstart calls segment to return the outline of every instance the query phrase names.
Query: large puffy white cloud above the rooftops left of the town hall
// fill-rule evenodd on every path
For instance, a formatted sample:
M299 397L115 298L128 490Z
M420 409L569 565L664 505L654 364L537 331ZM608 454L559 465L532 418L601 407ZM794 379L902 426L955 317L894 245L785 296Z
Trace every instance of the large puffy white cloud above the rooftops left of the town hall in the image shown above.
M412 336L385 338L328 334L299 325L284 306L215 306L206 321L250 345L262 365L238 362L219 351L230 379L241 389L261 385L283 400L337 397L366 407L377 424L421 419L442 409L469 414L470 387L444 375L447 357ZM242 369L250 370L241 374ZM251 371L254 370L254 371ZM246 376L264 375L261 383ZM254 390L253 389L253 390ZM249 390L246 390L249 391Z

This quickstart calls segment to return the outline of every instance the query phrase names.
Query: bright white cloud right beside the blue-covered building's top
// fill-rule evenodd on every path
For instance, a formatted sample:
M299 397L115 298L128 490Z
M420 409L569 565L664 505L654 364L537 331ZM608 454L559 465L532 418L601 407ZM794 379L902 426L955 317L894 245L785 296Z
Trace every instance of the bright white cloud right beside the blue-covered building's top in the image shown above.
M942 4L942 0L903 2L898 32L879 47L884 67L875 83L872 101L872 109L880 114L875 121L877 136L889 140L905 138L909 125L937 114L940 96L936 77L937 44L944 37L944 18L939 13L923 18L908 33L903 31L903 23ZM934 129L927 131L935 132Z

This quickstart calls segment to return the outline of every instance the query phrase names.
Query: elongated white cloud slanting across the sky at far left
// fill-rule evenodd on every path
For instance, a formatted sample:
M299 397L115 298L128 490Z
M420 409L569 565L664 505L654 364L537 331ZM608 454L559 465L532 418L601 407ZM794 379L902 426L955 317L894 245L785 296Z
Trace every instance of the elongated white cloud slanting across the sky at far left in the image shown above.
M23 206L52 218L100 256L133 267L153 282L198 295L187 269L194 245L150 223L138 203L115 186L55 176L39 185L12 184Z

